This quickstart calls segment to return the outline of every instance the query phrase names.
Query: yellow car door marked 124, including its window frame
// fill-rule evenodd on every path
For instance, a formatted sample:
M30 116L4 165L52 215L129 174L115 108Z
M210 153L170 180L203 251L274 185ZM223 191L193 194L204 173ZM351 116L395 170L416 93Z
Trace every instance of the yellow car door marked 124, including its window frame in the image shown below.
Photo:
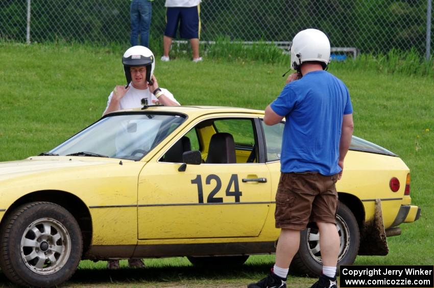
M139 175L138 238L257 237L271 204L258 123L255 117L204 117L157 153ZM219 158L215 151L221 151L212 144L214 134L233 137L235 163L210 163ZM185 141L177 141L186 138L187 149L199 150L204 163L178 171L181 164L173 163L168 154L171 147L185 149ZM210 146L215 149L209 151Z

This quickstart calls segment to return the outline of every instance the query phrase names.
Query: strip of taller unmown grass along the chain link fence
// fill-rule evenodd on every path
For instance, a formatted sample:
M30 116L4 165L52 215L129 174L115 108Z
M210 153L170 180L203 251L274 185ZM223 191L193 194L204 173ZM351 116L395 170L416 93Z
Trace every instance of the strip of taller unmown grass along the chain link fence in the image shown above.
M114 47L117 46L118 44L114 45ZM161 39L151 39L151 47L154 53L162 54ZM246 45L242 41L231 41L229 38L221 37L216 39L215 44L201 44L200 51L207 59L218 61L241 63L254 61L262 64L290 66L289 55L283 53L283 50L276 45L262 41ZM171 59L190 59L189 43L174 44L170 54ZM425 56L418 53L415 48L407 51L392 49L387 54L362 54L355 60L351 56L348 55L344 62L333 61L332 66L360 72L369 70L383 74L434 76L434 56L426 60Z

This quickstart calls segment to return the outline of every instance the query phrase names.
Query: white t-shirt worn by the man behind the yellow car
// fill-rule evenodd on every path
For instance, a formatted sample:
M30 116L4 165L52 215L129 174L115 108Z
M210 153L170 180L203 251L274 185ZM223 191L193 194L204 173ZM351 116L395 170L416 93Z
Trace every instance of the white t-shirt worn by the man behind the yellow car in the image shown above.
M173 96L173 94L171 92L169 92L167 89L164 89L164 88L160 88L160 89L164 93L165 96L167 96L169 99L171 99L171 100L173 100L179 104L179 102L175 99L175 97ZM107 101L107 107L104 110L104 113L107 111L107 109L110 105L112 96L113 96L113 91L111 91L111 93L109 95L109 98ZM147 98L149 105L153 105L153 104L155 104L156 101L158 101L157 97L155 97L155 95L149 91L149 88L144 89L144 90L140 90L140 89L134 88L130 84L130 89L127 91L127 93L125 93L124 97L122 97L122 99L120 99L120 101L119 101L119 110L141 107L142 106L142 104L141 104L142 98ZM104 115L104 113L103 113L103 115Z

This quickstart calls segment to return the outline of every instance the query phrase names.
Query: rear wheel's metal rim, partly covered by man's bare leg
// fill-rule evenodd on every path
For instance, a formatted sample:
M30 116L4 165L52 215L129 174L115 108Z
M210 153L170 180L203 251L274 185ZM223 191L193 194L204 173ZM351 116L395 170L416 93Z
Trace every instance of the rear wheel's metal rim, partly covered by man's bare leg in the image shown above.
M350 246L350 232L347 223L339 215L336 216L336 228L340 240L339 255L337 256L337 262L339 263L339 261L344 258L345 254L347 254ZM318 228L308 228L306 239L310 255L315 259L315 261L322 265L323 260L321 258L320 231Z

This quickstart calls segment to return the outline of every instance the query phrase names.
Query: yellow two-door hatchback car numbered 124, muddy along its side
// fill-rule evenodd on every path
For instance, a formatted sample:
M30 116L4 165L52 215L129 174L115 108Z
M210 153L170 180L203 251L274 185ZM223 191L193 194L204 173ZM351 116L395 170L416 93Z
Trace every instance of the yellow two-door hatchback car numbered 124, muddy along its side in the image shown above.
M263 111L143 107L106 115L49 152L0 164L0 267L20 285L66 281L81 259L187 256L243 264L275 252L284 122ZM353 137L337 182L339 264L385 255L414 222L408 167ZM218 257L220 256L220 257ZM318 229L302 233L293 268L321 271Z

